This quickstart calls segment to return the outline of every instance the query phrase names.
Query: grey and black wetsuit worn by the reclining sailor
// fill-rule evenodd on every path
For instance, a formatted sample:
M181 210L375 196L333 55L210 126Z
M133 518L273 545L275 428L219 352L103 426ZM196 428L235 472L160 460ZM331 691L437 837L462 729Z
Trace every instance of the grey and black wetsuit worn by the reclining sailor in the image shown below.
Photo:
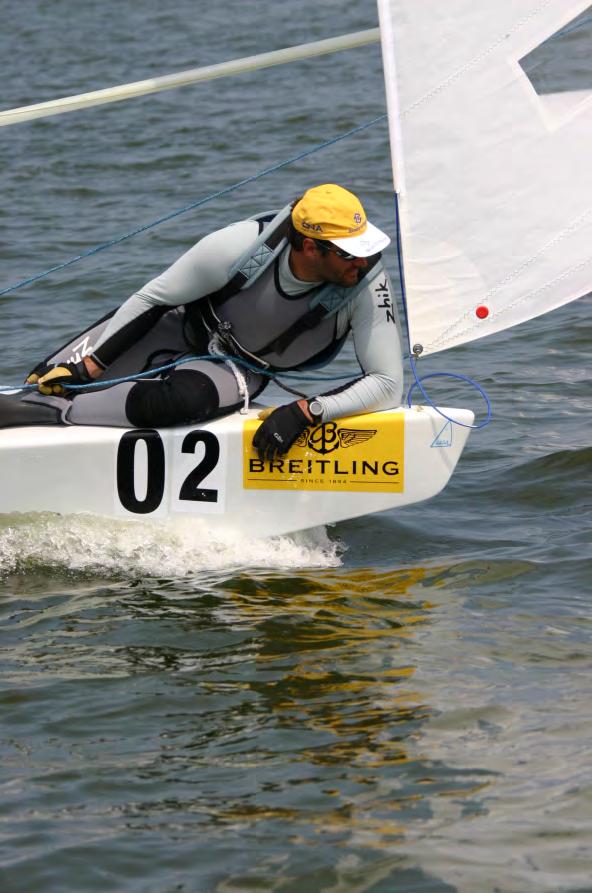
M211 333L205 326L196 327L195 320L200 319L208 296L226 284L233 263L258 233L256 220L211 233L122 304L91 339L92 356L105 367L101 378L155 368L184 354L207 354ZM278 326L285 330L298 303L308 302L311 291L321 285L295 278L289 251L289 247L284 249L257 283L222 307L220 315L232 323L243 345L261 346ZM395 308L388 276L381 269L337 314L321 320L314 330L300 333L279 352L271 349L264 359L279 369L306 368L312 362L322 365L351 332L363 374L319 397L323 419L398 406L403 375ZM249 395L260 393L267 378L239 368ZM63 417L75 425L166 426L204 421L241 403L239 381L230 365L205 359L142 382L82 391L68 401Z

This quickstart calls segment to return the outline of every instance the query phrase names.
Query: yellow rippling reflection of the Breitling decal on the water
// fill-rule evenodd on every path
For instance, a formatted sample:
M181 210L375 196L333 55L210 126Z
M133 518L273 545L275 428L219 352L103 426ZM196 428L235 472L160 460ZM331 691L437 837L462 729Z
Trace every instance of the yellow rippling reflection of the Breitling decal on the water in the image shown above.
M433 794L478 795L486 779L449 773L418 747L431 711L412 687L421 653L414 631L430 622L422 585L441 570L250 574L219 587L227 599L217 614L256 632L253 659L237 683L256 695L241 702L241 713L245 753L259 755L250 770L260 783L217 804L218 821L289 821L301 841L320 835L382 850L429 817ZM206 687L223 695L228 684L225 673Z

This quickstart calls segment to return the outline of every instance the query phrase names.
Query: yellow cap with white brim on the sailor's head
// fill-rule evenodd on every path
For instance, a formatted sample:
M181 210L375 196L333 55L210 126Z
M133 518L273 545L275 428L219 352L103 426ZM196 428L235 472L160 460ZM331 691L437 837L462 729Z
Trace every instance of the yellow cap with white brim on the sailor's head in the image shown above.
M305 192L292 209L292 223L302 235L333 242L356 257L377 254L390 242L366 219L359 198L335 183Z

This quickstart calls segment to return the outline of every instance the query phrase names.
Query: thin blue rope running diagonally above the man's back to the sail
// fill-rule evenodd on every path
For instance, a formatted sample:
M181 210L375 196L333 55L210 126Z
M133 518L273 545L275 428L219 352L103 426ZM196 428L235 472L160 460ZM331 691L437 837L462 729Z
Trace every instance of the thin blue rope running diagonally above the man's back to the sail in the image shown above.
M378 124L380 121L384 121L385 119L386 115L379 115L377 118L373 118L371 121L366 121L365 124L360 124L358 127L354 127L352 128L352 130L348 130L346 133L339 134L339 136L332 137L330 140L319 143L318 146L313 146L312 149L306 149L304 152L299 152L298 155L294 155L292 158L288 158L285 161L280 161L277 164L273 164L270 167L264 168L264 170L259 171L256 174L252 174L250 177L245 177L243 180L239 180L237 183L233 183L231 186L226 186L224 189L219 189L217 192L212 192L210 193L210 195L206 195L204 198L200 198L198 199L198 201L192 202L190 205L187 205L184 208L180 208L177 211L172 211L170 214L165 214L163 217L159 217L157 220L153 220L151 223L146 223L143 226L139 226L136 229L131 230L131 232L124 233L124 235L119 236L116 239L110 239L108 242L103 242L100 245L96 245L94 248L89 248L88 251L83 251L82 254L78 254L76 255L76 257L72 257L67 261L56 264L55 266L50 267L48 270L44 270L42 273L37 273L35 276L30 276L27 279L21 279L19 282L15 282L13 285L9 285L6 288L2 289L0 291L0 297L9 294L9 292L16 291L18 288L23 288L23 286L25 285L31 285L33 282L37 282L39 279L43 279L45 276L49 276L50 273L57 273L59 270L65 270L66 267L70 267L72 266L72 264L78 263L78 261L84 260L87 257L92 257L94 254L98 254L100 251L105 251L107 248L112 248L114 245L119 245L121 242L125 242L126 239L131 239L132 236L137 236L139 235L139 233L146 232L146 230L152 229L153 227L158 226L161 223L166 223L169 220L173 220L173 218L179 217L181 214L186 214L188 211L193 211L195 208L199 208L202 205L214 201L214 199L220 198L223 195L228 195L228 193L234 192L236 189L240 189L242 186L246 186L249 183L254 183L261 177L267 176L267 174L272 174L284 167L288 167L288 165L290 164L294 164L296 161L300 161L302 158L306 158L309 155L313 155L315 152L319 152L321 149L326 149L329 146L333 146L335 143L347 139L347 137L354 136L357 133L361 133L363 130L367 130L369 127L373 127L374 124Z

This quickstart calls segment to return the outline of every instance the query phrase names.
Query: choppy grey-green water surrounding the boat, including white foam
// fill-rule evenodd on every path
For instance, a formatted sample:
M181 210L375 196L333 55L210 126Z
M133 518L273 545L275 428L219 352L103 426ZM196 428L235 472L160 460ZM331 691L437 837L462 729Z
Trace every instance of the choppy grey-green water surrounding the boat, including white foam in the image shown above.
M0 9L4 108L376 25L331 0ZM3 129L2 287L382 114L381 77L368 47ZM392 234L379 124L4 298L0 381L324 180ZM3 891L592 890L590 309L430 361L495 421L400 514L271 544L2 519Z

